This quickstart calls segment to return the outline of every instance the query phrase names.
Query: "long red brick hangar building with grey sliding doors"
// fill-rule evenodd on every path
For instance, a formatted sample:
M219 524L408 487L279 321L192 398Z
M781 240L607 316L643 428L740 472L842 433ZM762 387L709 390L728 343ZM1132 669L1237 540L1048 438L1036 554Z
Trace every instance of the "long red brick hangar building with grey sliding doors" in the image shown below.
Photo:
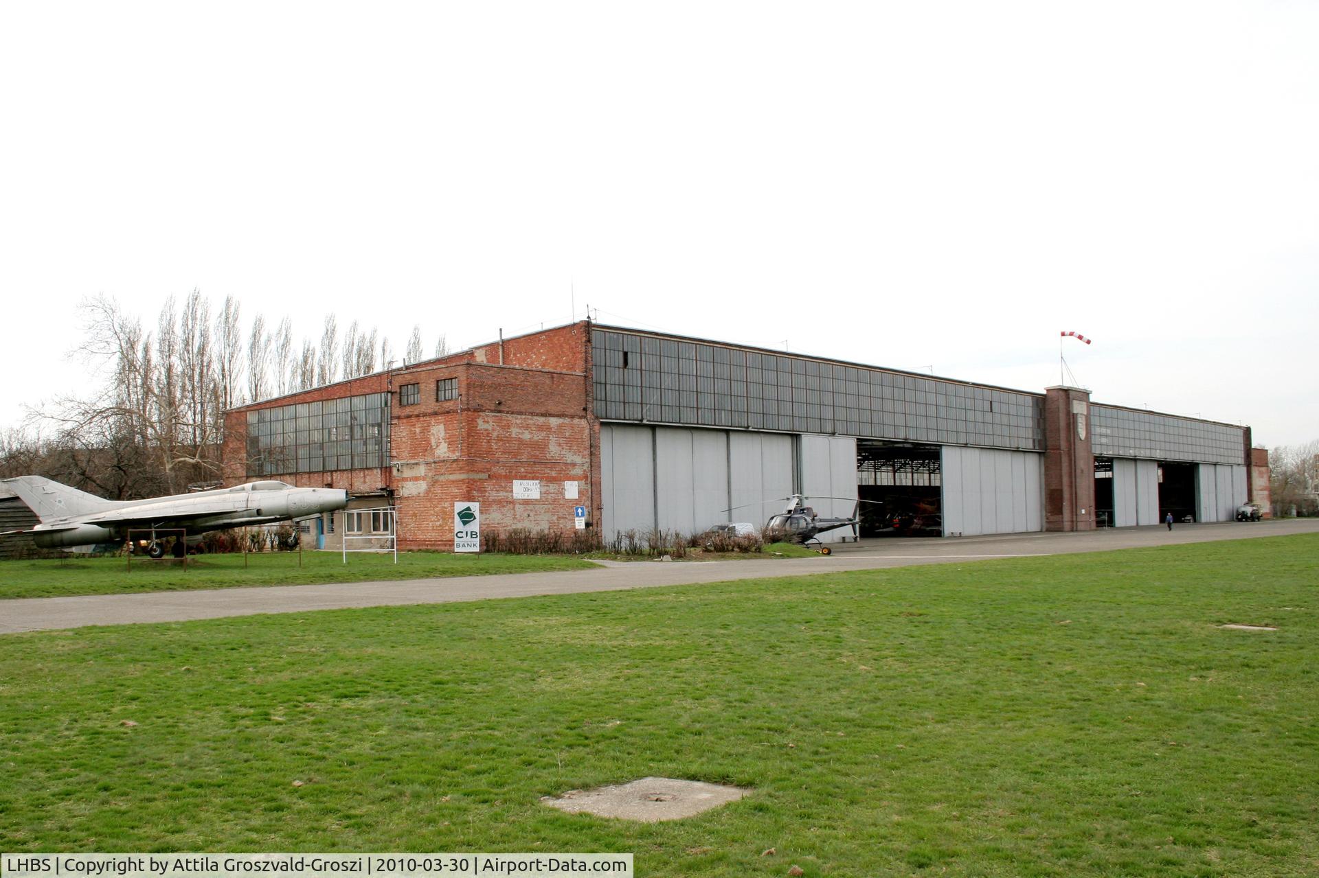
M869 501L863 537L959 537L1229 521L1258 479L1249 427L592 322L233 409L226 426L227 484L344 488L351 508L393 508L400 548L452 548L454 502L481 504L483 533L571 531L584 506L611 539L760 525L803 493L826 515ZM338 547L334 529L315 523L317 544Z

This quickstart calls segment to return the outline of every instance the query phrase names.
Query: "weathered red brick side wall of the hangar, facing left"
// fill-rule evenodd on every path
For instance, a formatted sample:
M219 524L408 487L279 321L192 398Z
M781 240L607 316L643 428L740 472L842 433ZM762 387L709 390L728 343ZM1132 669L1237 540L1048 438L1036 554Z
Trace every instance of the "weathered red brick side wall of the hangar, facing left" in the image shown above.
M247 411L360 393L393 392L389 469L315 472L299 485L393 490L400 548L451 550L454 504L480 502L483 531L574 530L572 508L599 521L599 423L591 413L590 326L575 323L485 344L389 373L343 381L226 415L226 481L247 481ZM458 378L459 399L435 399L435 381ZM418 403L398 405L417 384ZM539 500L513 500L513 480L538 480ZM565 481L578 483L566 498Z

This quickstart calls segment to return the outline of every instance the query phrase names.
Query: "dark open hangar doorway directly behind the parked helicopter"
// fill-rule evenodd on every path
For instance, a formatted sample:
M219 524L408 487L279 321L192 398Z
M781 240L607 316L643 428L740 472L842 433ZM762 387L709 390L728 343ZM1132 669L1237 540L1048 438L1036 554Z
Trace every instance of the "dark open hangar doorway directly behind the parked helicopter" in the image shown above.
M943 535L939 446L856 440L861 537Z

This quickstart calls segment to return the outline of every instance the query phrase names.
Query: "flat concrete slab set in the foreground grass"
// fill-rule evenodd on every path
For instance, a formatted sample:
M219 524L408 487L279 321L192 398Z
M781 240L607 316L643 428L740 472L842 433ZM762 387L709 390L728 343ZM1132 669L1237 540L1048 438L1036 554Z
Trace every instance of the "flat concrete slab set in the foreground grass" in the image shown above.
M737 802L748 792L751 791L741 787L700 780L641 778L612 787L568 790L561 796L545 796L541 802L568 813L594 813L599 817L656 823L690 817Z

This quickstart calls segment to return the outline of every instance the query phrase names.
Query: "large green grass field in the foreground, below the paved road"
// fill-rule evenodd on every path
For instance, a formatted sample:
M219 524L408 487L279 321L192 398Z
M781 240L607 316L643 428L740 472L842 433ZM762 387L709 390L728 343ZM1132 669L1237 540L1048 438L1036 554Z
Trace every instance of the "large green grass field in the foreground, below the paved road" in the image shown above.
M1312 535L8 635L0 849L1316 874L1316 646ZM644 775L753 792L538 804Z

